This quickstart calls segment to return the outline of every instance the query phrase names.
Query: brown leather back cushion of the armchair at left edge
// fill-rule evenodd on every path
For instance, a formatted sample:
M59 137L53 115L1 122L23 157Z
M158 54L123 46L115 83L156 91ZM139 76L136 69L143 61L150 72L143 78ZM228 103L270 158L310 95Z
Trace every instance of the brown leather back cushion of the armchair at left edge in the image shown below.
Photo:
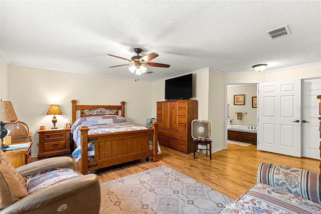
M2 154L1 156L3 156ZM6 208L17 200L28 195L25 186L22 186L4 160L0 159L0 209ZM20 175L21 176L21 175Z

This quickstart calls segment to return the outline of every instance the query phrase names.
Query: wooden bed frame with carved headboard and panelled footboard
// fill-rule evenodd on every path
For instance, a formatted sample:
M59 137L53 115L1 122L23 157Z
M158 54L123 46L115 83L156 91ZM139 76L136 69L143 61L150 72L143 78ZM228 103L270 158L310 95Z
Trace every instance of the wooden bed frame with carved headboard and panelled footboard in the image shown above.
M72 122L76 121L77 111L80 117L114 114L125 117L125 102L119 105L77 105L77 100L72 100ZM113 113L110 113L113 111ZM147 158L152 156L152 161L158 161L157 153L157 128L158 123L153 122L152 128L122 131L114 133L88 135L89 128L79 128L81 132L81 159L78 167L82 174L89 170L100 169L120 163ZM152 135L152 150L149 150L149 136ZM88 162L88 143L95 144L94 161ZM74 146L75 142L74 142ZM76 148L76 147L74 147Z

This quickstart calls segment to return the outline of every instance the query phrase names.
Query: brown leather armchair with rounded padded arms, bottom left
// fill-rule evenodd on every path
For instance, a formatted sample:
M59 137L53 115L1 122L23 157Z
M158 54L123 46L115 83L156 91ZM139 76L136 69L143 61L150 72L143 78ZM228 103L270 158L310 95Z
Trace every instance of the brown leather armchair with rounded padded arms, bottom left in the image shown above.
M51 167L75 169L72 158L53 157L15 169L1 151L0 163L0 213L99 213L100 184L96 174L64 180L31 194L27 192L24 175Z

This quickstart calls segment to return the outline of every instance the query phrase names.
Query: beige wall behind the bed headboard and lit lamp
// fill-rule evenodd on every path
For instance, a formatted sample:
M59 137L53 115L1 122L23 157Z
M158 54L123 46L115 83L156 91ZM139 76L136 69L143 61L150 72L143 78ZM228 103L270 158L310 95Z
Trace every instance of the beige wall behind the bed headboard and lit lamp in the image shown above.
M152 115L152 84L130 80L110 79L21 66L8 66L9 98L20 121L33 131L32 155L38 154L37 131L45 125L50 129L52 116L46 115L50 104L59 104L56 126L63 127L66 118L72 119L71 100L78 104L119 105L126 102L128 122L146 125Z

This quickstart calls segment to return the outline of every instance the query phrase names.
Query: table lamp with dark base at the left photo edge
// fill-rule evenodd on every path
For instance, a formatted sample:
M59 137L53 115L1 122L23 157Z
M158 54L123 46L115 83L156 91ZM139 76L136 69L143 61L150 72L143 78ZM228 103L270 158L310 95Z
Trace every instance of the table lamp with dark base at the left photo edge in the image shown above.
M18 121L18 117L15 113L14 107L10 101L0 101L0 138L1 148L8 148L9 145L4 144L4 138L8 134L8 129L5 128L7 123L15 123Z

